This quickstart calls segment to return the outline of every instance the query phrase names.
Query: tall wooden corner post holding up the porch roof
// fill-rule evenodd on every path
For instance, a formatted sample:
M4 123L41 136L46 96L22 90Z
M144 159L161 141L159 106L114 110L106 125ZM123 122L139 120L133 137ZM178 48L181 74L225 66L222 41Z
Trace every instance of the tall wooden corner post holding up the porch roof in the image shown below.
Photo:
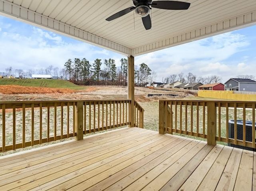
M129 104L129 127L134 127L134 57L128 57L128 99Z

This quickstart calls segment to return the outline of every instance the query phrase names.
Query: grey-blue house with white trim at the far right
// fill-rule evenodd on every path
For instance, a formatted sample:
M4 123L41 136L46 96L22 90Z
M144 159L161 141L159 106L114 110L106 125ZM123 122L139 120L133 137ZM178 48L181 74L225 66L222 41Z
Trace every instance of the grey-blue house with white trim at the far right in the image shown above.
M256 81L251 79L230 78L225 83L225 90L256 92Z

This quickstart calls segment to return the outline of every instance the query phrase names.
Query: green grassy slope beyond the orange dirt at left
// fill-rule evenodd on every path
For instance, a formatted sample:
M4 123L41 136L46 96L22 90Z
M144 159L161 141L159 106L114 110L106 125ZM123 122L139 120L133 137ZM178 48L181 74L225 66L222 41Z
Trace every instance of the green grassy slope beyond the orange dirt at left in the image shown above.
M68 88L82 90L86 87L78 86L67 80L60 79L0 79L0 85L19 85L28 87L47 87L47 88Z

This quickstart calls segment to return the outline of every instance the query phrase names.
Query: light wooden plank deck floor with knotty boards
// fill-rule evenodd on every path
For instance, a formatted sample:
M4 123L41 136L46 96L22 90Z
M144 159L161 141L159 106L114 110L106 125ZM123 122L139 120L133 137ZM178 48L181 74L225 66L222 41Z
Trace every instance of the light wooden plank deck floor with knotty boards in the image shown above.
M256 154L123 128L0 158L0 190L256 190Z

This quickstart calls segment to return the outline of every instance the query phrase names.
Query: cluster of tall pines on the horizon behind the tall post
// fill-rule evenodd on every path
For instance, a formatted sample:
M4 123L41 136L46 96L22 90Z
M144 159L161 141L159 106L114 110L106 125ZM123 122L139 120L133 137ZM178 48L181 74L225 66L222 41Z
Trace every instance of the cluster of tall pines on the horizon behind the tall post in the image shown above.
M95 59L90 63L86 58L68 59L64 64L64 69L68 74L68 79L74 83L84 85L127 85L128 81L128 61L125 58L120 60L120 67L116 66L114 59ZM153 73L154 74L154 73ZM137 86L145 86L152 83L154 77L152 70L145 63L141 63L135 69L134 81Z

